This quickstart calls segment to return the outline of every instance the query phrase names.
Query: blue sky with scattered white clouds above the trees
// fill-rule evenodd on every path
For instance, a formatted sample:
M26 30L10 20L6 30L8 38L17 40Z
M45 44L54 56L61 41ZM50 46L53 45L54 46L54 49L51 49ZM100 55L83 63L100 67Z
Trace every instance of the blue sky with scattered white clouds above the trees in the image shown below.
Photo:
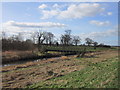
M72 30L84 41L118 45L118 3L16 2L2 5L3 31L8 35L49 31L58 38Z

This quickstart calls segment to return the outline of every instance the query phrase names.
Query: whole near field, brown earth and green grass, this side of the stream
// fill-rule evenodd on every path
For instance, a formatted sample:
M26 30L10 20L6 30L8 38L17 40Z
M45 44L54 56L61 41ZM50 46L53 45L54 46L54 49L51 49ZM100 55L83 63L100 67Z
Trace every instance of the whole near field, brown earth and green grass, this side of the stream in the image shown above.
M61 56L2 68L3 88L117 88L118 51Z

